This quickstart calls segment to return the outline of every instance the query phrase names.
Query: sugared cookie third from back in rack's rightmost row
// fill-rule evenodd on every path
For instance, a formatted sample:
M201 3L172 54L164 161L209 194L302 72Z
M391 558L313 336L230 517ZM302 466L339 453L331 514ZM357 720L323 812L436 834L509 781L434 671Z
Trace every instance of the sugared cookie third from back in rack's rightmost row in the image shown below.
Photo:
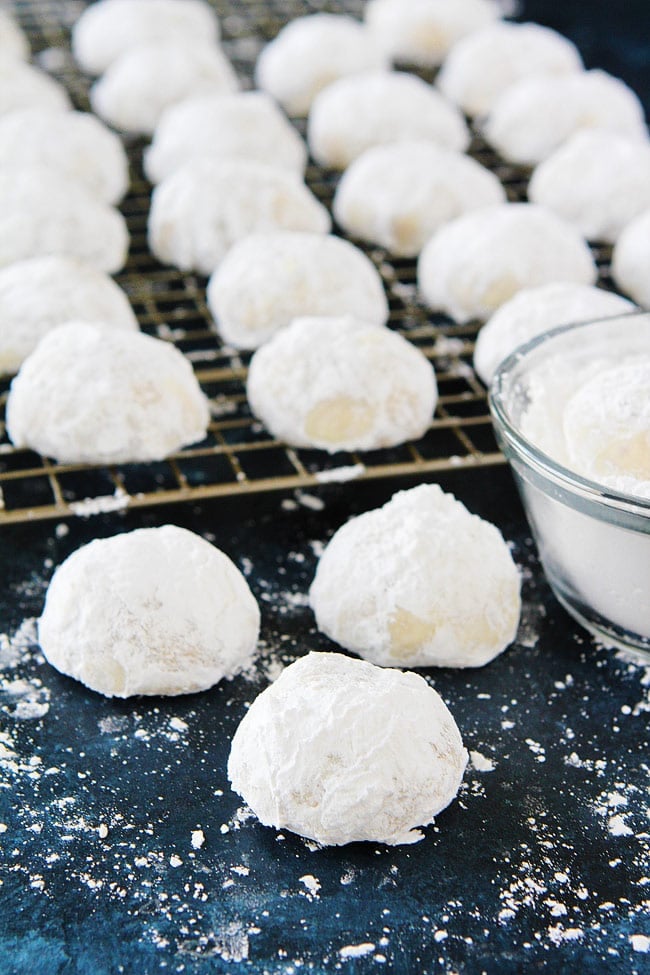
M648 139L641 102L605 71L518 81L494 103L483 135L504 159L535 166L574 132L593 127Z

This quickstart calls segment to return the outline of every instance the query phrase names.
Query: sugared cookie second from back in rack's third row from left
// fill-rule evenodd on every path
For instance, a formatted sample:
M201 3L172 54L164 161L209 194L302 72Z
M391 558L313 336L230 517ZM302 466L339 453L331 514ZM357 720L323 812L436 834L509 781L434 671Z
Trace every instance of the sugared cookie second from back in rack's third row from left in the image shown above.
M462 151L469 131L455 105L415 75L373 71L341 78L316 96L309 112L311 154L345 169L365 149L427 139Z

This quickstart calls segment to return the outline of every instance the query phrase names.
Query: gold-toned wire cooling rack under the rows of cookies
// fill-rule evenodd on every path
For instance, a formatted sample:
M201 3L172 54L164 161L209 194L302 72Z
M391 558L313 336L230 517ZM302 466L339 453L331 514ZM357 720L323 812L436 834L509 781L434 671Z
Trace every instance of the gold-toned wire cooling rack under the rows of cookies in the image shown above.
M89 79L70 55L70 27L85 3L17 0L5 4L27 31L37 63L67 87L77 108L88 110ZM358 15L360 0L216 0L223 46L242 83L264 43L292 16L329 10ZM297 123L304 134L304 123ZM245 378L250 356L224 347L211 328L205 280L163 267L149 253L146 223L151 187L142 173L142 140L126 140L131 189L121 209L131 233L125 269L116 276L129 295L142 330L173 342L194 364L212 404L205 441L165 461L112 467L57 464L32 451L17 450L4 428L9 380L0 379L0 524L121 507L145 507L221 495L279 488L307 488L348 477L380 478L430 474L458 467L503 463L490 422L485 388L472 365L478 323L459 326L432 315L417 299L415 261L394 260L364 247L384 281L390 327L419 346L433 362L439 399L435 416L419 441L396 448L333 456L319 450L288 448L270 437L251 415ZM470 153L502 180L511 200L525 199L527 174L509 166L477 135ZM337 174L310 163L306 182L328 207ZM358 242L357 242L358 243ZM610 254L596 253L601 279L608 282Z

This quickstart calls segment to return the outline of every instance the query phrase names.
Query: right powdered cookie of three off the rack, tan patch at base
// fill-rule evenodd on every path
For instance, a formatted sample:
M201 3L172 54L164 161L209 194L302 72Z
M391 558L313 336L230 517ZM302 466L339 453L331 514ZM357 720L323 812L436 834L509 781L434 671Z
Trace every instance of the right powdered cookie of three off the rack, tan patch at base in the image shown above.
M323 633L382 667L481 667L514 640L521 608L499 530L437 484L339 528L309 600Z

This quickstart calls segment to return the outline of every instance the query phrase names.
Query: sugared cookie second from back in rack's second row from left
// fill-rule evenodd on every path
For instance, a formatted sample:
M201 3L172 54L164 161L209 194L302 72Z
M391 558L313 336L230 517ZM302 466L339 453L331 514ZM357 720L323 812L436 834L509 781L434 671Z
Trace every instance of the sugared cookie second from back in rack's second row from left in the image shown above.
M152 135L170 105L190 95L225 94L237 88L235 72L216 46L178 41L138 44L95 82L90 104L116 129Z

